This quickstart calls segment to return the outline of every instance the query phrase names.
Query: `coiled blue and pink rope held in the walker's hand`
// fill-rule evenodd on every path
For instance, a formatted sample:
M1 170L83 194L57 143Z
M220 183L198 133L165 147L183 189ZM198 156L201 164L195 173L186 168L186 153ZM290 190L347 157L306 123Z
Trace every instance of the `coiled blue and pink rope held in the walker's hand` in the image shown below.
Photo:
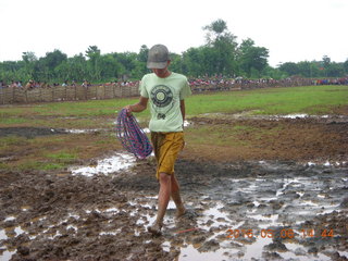
M133 115L122 109L116 119L116 137L124 149L138 159L145 159L152 152L152 146Z

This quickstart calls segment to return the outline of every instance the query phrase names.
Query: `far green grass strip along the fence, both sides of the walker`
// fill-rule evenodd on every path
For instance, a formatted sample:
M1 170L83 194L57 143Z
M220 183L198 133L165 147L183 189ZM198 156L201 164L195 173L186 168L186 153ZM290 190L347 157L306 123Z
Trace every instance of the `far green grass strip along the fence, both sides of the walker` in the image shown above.
M47 123L53 122L51 121L52 117L55 117L57 123L71 121L74 122L73 127L88 126L90 119L115 117L116 111L137 101L138 98L127 98L35 103L17 107L2 105L0 124L5 126L22 123L28 125L35 121L36 125L47 125ZM204 113L237 113L244 111L249 111L251 114L330 114L333 107L347 104L348 86L265 88L194 95L186 99L186 114L187 116L196 116ZM149 109L136 113L136 116L141 120L148 120L149 115ZM69 117L76 119L71 120ZM57 121L57 119L59 120Z

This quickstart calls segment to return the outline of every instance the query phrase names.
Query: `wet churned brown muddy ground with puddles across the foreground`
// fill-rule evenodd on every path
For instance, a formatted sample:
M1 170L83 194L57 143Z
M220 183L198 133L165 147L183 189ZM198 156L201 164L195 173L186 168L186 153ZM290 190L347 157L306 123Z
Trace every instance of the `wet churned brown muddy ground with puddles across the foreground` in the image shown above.
M175 166L188 213L174 219L171 202L159 237L146 229L159 188L152 158L109 174L2 171L0 260L347 260L346 117L192 119L192 128L286 127L239 151L188 140Z

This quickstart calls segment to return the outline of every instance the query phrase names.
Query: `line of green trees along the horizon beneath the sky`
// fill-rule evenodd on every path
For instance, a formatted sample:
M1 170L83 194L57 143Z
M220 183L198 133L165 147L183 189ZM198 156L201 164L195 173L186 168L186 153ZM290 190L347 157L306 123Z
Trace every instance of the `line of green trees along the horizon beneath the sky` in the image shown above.
M237 42L223 20L203 27L206 44L192 47L182 54L171 53L171 70L189 77L223 75L235 78L344 77L348 75L348 59L344 63L332 62L327 55L322 61L285 62L269 65L269 50L256 46L250 38ZM105 83L140 79L149 70L146 61L149 48L138 52L112 52L101 54L97 46L89 46L85 53L67 57L55 49L45 57L23 52L21 61L0 62L0 82L23 83L34 79L46 83L83 82Z

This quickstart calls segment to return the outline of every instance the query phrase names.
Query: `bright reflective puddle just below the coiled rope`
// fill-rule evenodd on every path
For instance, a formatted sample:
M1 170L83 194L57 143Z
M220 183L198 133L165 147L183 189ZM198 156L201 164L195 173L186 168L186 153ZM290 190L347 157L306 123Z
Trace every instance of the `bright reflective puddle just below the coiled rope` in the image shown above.
M70 171L73 175L94 176L97 174L111 174L121 170L127 170L136 162L132 154L117 153L111 158L99 160L95 166L73 167Z

